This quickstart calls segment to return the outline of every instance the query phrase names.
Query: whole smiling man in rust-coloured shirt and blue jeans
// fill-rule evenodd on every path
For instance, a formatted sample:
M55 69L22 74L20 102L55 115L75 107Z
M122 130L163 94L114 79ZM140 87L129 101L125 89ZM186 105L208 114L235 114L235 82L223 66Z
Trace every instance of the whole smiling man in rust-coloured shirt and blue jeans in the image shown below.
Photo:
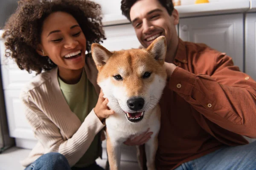
M144 48L166 37L157 169L255 169L256 142L243 136L256 138L256 82L226 54L180 40L172 0L122 0L121 9ZM150 134L125 144L143 145Z

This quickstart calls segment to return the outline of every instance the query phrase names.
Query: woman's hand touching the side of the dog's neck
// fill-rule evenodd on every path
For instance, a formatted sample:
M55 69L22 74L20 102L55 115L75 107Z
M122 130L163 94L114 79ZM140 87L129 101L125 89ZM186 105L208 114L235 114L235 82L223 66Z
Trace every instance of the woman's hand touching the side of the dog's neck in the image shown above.
M114 111L108 108L108 99L103 97L102 90L99 94L98 102L94 108L95 114L98 116L99 120L102 121L103 119L107 118L109 115L113 114Z

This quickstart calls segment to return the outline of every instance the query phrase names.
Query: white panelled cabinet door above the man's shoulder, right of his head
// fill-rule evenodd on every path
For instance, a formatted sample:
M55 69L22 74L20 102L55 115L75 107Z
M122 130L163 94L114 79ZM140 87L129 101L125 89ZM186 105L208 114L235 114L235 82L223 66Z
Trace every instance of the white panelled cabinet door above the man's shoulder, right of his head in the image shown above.
M227 53L244 71L243 14L228 14L180 19L179 37L184 41L205 43Z

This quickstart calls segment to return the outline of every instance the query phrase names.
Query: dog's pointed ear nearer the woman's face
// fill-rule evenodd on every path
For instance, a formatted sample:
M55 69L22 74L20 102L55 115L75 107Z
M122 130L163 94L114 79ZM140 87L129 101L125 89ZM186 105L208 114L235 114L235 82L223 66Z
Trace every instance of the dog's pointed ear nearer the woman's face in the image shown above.
M107 63L109 57L112 55L110 51L97 43L92 44L91 50L92 57L97 68L104 66Z

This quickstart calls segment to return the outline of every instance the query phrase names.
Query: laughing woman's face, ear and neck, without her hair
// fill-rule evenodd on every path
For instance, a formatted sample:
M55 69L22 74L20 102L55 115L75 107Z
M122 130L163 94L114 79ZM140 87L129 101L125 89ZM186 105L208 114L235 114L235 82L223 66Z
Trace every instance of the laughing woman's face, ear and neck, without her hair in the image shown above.
M36 51L58 65L59 77L64 82L79 81L85 64L86 38L71 14L63 11L49 14L43 22L41 43Z

